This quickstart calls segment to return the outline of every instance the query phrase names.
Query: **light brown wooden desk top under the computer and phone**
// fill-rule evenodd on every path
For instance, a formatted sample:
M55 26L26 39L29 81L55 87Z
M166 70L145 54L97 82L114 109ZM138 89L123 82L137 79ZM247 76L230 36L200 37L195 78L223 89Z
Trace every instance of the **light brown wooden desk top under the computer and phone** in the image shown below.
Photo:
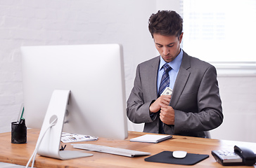
M82 142L89 144L98 144L103 146L113 146L117 148L127 148L136 151L150 152L155 155L162 151L187 151L188 153L199 153L210 155L209 158L189 167L222 167L212 157L212 150L222 148L233 149L234 145L246 146L256 152L256 143L247 143L239 141L224 141L217 139L203 139L195 137L173 136L172 139L162 141L158 144L130 142L129 139L139 137L145 134L143 132L129 132L128 139L98 139L98 141ZM0 134L0 162L8 162L17 165L26 165L34 151L39 130L27 130L27 144L11 144L11 132ZM78 150L67 144L65 150ZM119 155L106 153L89 152L94 155L87 158L77 158L73 160L56 160L52 158L41 157L37 155L34 167L184 167L181 165L170 165L164 163L145 162L144 158L148 156L128 158ZM186 166L188 167L188 166ZM254 166L256 167L256 165ZM238 167L236 167L238 168Z

